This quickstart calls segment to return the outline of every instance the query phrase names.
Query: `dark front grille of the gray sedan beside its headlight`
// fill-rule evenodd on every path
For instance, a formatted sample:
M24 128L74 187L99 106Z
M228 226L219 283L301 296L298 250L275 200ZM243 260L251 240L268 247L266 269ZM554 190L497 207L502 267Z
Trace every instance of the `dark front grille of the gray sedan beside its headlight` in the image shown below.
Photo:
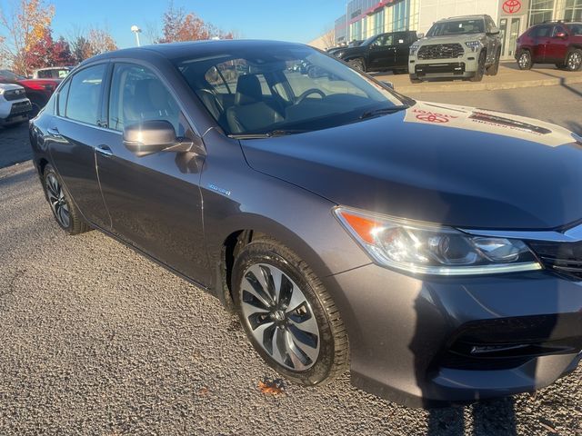
M529 244L547 269L582 280L582 242Z

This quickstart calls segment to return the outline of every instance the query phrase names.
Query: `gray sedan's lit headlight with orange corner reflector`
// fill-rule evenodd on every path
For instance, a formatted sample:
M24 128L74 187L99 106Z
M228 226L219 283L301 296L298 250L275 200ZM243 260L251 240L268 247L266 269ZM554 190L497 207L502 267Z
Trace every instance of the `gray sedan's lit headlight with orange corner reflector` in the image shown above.
M471 275L541 269L526 243L475 236L452 227L336 207L339 222L382 266L434 275Z

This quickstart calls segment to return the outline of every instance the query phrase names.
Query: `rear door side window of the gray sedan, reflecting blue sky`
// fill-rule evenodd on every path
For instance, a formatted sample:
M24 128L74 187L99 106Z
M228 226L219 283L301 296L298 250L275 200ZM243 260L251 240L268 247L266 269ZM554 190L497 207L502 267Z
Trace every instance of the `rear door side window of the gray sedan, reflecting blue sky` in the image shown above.
M105 76L105 64L90 66L71 79L65 116L88 124L97 124L101 112L99 100Z

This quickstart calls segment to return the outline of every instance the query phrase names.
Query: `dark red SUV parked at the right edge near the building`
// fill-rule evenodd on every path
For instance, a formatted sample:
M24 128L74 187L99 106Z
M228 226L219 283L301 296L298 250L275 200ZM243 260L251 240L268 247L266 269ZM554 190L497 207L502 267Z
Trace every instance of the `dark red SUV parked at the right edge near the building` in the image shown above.
M556 64L557 68L582 68L582 23L546 22L527 29L517 39L517 65L529 70L534 64Z

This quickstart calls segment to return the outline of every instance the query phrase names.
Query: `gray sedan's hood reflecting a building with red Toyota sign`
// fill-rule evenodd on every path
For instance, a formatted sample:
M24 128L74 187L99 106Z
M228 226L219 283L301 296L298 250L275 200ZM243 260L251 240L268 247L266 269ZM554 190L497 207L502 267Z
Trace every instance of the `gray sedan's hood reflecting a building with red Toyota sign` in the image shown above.
M582 219L582 138L520 116L418 102L356 124L241 144L256 171L377 213L484 229Z

